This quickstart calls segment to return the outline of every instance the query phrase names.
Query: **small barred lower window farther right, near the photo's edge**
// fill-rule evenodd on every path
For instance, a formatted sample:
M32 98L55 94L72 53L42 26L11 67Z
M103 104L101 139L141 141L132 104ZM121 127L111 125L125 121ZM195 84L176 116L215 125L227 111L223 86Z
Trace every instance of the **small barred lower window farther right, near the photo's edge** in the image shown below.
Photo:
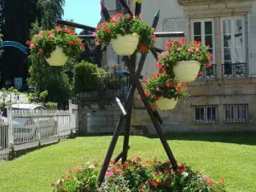
M248 104L224 105L226 123L248 123Z

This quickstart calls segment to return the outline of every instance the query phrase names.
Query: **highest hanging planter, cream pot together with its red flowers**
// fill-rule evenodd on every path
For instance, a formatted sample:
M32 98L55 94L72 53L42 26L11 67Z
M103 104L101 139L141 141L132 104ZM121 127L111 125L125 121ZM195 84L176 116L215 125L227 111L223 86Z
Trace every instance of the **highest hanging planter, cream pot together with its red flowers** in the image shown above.
M148 51L154 45L154 29L138 17L117 14L96 28L96 44L103 48L108 43L118 55L132 55Z

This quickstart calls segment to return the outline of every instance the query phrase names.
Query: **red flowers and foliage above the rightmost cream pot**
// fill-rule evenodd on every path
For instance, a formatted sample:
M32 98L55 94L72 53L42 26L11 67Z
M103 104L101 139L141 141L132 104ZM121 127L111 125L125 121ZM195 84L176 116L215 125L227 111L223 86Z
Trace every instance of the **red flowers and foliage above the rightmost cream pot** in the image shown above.
M206 67L211 67L212 54L208 52L209 46L201 44L199 41L185 42L184 38L181 41L166 41L166 51L160 55L157 68L164 68L166 73L173 75L172 69L177 65L178 61L198 61L201 63L201 71Z

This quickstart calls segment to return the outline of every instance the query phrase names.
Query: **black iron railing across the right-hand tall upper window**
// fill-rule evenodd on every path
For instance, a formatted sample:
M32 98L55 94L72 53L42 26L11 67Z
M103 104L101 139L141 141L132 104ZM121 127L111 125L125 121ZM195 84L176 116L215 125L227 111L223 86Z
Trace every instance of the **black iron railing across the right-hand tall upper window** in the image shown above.
M223 78L246 78L247 63L225 63L222 65Z

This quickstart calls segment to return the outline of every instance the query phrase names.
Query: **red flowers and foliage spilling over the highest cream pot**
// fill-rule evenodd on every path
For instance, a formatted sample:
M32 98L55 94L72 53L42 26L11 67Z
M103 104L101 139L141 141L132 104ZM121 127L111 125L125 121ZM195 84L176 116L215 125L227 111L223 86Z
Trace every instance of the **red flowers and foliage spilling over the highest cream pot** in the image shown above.
M125 18L121 14L112 17L111 20L102 22L96 28L96 44L106 47L111 39L117 38L118 35L137 34L140 36L137 45L137 51L148 51L154 45L154 29L138 17Z

